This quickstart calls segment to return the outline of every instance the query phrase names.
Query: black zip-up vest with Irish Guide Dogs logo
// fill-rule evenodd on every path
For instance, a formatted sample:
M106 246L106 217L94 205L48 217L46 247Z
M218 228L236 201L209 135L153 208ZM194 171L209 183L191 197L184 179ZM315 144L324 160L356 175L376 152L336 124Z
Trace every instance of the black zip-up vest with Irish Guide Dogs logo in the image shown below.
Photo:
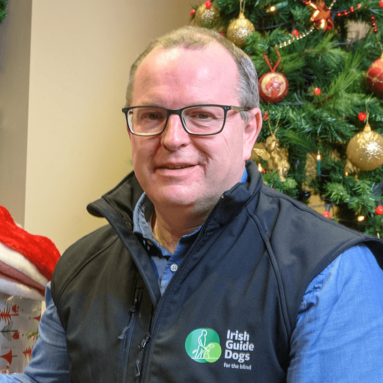
M283 382L290 337L308 284L364 242L266 187L225 192L164 295L133 235L142 193L133 173L88 210L105 226L72 245L52 277L74 382ZM379 255L378 255L379 254Z

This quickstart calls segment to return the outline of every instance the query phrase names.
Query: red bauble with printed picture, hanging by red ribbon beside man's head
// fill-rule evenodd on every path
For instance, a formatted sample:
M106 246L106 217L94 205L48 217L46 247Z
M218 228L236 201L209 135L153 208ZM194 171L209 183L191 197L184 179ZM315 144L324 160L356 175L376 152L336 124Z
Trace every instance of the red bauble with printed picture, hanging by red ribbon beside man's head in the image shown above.
M277 68L280 62L281 55L276 48L274 49L279 56L277 64L272 68L267 56L264 54L264 59L271 72L264 73L258 81L259 97L265 102L278 102L282 100L282 98L285 98L288 92L288 81L285 75L280 72L275 72L275 68Z

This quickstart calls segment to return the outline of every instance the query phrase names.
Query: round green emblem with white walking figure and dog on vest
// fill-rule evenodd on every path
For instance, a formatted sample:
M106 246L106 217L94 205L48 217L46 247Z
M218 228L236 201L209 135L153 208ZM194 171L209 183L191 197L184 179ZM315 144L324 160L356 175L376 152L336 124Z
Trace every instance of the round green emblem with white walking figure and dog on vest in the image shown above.
M196 329L185 340L185 350L191 359L199 363L214 363L221 356L219 336L212 329Z

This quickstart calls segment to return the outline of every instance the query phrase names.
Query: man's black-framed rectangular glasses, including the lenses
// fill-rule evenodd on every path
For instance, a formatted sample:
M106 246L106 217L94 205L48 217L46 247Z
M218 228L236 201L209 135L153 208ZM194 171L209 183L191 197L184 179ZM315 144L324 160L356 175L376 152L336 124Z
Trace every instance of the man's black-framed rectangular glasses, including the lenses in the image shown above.
M225 126L228 110L244 111L241 106L192 105L182 109L159 106L131 106L123 108L129 131L138 136L155 136L164 131L170 115L180 116L183 129L196 136L218 134Z

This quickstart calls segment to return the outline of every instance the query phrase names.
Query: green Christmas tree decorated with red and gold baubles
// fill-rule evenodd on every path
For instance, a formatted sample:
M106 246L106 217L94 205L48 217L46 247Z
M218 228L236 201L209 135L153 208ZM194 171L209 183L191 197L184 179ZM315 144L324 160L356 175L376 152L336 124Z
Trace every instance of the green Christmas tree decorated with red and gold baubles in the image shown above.
M383 0L214 0L190 15L255 64L264 182L306 203L319 195L324 216L383 235Z

